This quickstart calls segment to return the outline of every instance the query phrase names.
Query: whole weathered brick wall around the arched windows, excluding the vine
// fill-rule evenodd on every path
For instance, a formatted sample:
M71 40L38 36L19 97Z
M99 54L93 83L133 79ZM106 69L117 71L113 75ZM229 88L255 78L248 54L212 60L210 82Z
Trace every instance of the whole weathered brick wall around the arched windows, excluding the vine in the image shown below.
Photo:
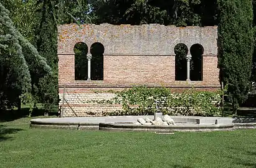
M95 99L95 95L92 95L95 90L122 90L132 85L164 86L175 90L190 88L191 85L202 90L216 90L220 87L216 26L69 24L59 26L58 31L60 98L65 86L67 88L65 97L80 116L92 113L100 115L101 111L120 109L120 106L90 105L83 102ZM75 81L73 47L77 42L85 42L89 49L95 42L103 44L105 48L103 81ZM186 44L188 49L193 44L201 44L204 48L202 81L190 83L175 81L174 47L179 43ZM109 97L113 96L111 93L106 94ZM105 99L106 96L96 95L100 99ZM61 103L62 100L60 105ZM64 112L64 116L73 116L67 105L64 107Z

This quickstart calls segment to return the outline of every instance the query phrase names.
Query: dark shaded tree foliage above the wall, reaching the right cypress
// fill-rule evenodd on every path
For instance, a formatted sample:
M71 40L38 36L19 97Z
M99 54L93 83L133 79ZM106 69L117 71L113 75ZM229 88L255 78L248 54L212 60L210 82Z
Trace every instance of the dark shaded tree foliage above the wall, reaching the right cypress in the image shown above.
M92 1L97 24L212 26L217 24L217 1L173 0Z

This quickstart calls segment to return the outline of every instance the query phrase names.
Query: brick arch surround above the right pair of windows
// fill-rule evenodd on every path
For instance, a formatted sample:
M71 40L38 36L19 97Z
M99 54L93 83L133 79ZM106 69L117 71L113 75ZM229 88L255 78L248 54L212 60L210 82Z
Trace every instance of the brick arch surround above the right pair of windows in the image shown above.
M190 54L190 48L194 44L200 44L202 47L204 47L204 55L216 55L215 53L212 53L212 40L209 37L206 37L206 35L187 35L187 34L175 34L173 35L173 38L168 40L168 44L170 45L170 52L171 55L175 55L174 53L174 47L177 44L185 44L187 45L187 48L189 49L188 54Z

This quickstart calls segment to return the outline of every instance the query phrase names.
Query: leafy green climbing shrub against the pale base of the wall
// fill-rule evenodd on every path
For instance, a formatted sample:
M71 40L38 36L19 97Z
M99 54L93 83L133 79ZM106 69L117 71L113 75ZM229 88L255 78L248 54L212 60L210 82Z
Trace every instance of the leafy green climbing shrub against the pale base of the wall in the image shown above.
M167 88L134 86L129 90L118 91L115 98L105 101L122 105L121 111L105 115L146 115L159 110L170 115L218 116L220 100L219 91L197 91L192 88L182 93L171 93ZM159 109L156 108L157 102Z

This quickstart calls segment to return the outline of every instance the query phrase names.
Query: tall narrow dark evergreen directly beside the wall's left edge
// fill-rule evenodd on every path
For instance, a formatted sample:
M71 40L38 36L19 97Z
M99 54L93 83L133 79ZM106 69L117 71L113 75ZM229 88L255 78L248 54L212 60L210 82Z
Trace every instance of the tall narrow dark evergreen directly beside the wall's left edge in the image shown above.
M46 58L52 72L39 79L37 98L44 104L45 114L52 110L59 101L58 96L58 57L57 57L57 1L37 1L37 17L40 24L36 29L37 50Z

